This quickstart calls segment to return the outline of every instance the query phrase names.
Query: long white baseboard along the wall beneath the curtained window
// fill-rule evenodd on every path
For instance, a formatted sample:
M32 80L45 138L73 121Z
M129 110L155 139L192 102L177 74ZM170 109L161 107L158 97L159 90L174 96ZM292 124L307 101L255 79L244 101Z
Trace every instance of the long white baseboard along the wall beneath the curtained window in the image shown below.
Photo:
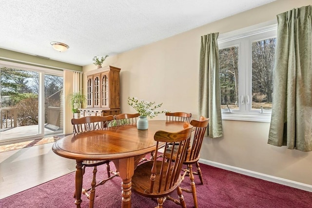
M275 176L271 176L271 175L266 175L263 173L258 173L258 172L254 172L251 170L246 170L243 168L239 168L239 167L234 167L234 166L228 166L228 165L224 165L221 163L216 163L213 161L209 161L209 160L204 160L204 159L199 159L198 161L199 163L203 163L209 166L214 166L214 167L218 167L221 169L225 169L225 170L230 170L236 173L240 173L243 175L248 175L254 178L259 178L259 179L263 179L265 181L270 181L270 182L274 182L276 184L281 184L281 185L285 185L288 187L294 187L294 188L298 188L301 190L305 190L305 191L310 191L312 192L312 186L308 185L308 184L303 184L303 183L299 183L299 182L295 182L295 181L291 181L291 180L287 180L287 179L283 179L283 178L278 178Z

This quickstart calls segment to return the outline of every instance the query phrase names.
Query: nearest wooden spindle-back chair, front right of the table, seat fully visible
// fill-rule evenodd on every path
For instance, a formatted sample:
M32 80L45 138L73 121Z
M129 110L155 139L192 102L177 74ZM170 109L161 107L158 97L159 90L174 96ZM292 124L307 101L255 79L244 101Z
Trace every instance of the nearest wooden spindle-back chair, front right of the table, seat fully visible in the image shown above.
M185 122L183 127L184 129L178 132L157 131L154 135L154 140L157 142L155 152L157 152L158 147L164 145L163 143L165 143L165 150L168 143L173 143L178 154L172 150L170 159L176 155L176 160L167 162L165 157L161 161L154 157L154 161L148 161L137 166L132 177L132 189L142 196L157 198L159 208L162 208L166 196L175 190L179 195L179 203L183 208L186 208L180 188L181 168L193 126Z

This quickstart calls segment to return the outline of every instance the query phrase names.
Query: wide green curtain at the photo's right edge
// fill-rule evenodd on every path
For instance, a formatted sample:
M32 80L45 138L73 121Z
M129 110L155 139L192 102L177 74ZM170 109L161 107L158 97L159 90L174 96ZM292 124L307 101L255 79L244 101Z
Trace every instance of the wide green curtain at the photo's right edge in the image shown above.
M312 151L312 6L277 15L268 144Z

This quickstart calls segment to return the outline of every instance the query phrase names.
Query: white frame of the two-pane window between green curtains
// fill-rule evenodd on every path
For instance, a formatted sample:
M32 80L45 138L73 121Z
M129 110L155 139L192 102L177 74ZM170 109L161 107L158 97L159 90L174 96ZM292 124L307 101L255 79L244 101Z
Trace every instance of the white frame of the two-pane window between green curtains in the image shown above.
M222 109L222 120L271 122L271 110L252 109L252 42L276 38L276 21L221 34L219 49L238 45L239 109Z

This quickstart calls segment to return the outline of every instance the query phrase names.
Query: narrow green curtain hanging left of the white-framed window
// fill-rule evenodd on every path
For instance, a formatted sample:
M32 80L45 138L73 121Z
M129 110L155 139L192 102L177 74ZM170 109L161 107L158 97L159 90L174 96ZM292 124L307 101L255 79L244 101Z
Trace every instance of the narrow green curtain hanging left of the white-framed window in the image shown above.
M210 118L208 126L208 135L210 138L223 136L218 35L219 33L211 33L202 36L200 48L199 116Z

